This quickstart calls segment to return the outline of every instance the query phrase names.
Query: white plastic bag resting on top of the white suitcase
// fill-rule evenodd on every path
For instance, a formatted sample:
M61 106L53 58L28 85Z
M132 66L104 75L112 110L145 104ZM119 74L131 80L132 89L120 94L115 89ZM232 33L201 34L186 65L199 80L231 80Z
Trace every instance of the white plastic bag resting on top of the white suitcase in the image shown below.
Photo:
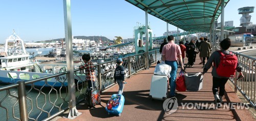
M170 72L171 71L172 71L172 67L165 64L163 61L161 61L160 64L157 64L157 66L155 68L155 71L154 71L154 74L170 77Z

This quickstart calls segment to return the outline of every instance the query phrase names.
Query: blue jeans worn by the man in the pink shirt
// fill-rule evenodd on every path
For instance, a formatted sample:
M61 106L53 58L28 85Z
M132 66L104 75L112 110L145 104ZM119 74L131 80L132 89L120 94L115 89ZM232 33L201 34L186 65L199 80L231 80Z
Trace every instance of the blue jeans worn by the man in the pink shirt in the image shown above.
M178 70L178 63L177 61L165 61L165 64L170 65L172 67L172 71L170 72L170 78L169 78L169 83L170 83L170 96L173 97L175 96L175 89L176 89L176 73Z

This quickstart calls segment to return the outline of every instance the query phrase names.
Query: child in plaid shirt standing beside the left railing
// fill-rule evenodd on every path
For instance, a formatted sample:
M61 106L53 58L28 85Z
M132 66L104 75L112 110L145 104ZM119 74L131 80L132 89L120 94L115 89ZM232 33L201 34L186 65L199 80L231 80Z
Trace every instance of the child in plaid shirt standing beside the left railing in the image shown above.
M94 73L94 65L91 61L91 56L89 54L83 54L82 60L84 65L79 66L79 69L86 70L86 80L88 82L88 87L95 87L95 73ZM92 83L93 82L93 83Z

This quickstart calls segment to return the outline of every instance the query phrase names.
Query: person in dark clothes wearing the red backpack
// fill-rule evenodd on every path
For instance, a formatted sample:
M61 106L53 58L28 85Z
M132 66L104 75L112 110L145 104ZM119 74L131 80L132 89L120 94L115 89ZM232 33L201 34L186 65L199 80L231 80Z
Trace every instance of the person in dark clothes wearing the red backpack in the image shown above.
M203 74L204 74L208 71L208 69L211 68L212 63L214 63L214 67L212 68L211 75L212 75L212 93L214 94L216 104L217 103L222 103L222 97L224 96L224 92L225 92L225 84L226 84L227 80L230 77L230 76L229 77L220 76L220 73L218 72L219 70L223 70L223 71L226 72L225 69L221 69L221 65L220 65L221 56L222 56L221 53L223 53L224 55L228 55L228 54L232 55L233 53L228 50L230 45L231 45L231 41L230 41L229 38L226 38L223 41L221 41L221 43L220 43L221 50L220 51L217 50L217 51L215 51L211 54L211 56L209 57L207 63L205 64L205 67L203 69ZM236 55L234 55L234 56L236 56ZM218 68L220 68L220 69L218 69ZM237 63L237 66L234 67L233 70L232 70L232 68L230 68L230 66L229 67L226 66L224 68L227 68L227 70L229 70L230 72L238 71L239 72L238 77L239 78L244 77L244 75L242 73L242 67L240 66L239 63ZM225 72L222 72L222 73L225 73Z

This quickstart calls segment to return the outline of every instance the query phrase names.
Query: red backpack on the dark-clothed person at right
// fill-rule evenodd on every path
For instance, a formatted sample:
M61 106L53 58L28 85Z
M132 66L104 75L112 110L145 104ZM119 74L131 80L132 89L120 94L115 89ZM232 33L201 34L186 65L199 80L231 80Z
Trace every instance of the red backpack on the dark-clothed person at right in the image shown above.
M217 67L217 74L222 77L234 77L236 75L236 68L238 64L238 57L229 52L229 54L224 54L221 50L218 50L221 54L221 61Z

